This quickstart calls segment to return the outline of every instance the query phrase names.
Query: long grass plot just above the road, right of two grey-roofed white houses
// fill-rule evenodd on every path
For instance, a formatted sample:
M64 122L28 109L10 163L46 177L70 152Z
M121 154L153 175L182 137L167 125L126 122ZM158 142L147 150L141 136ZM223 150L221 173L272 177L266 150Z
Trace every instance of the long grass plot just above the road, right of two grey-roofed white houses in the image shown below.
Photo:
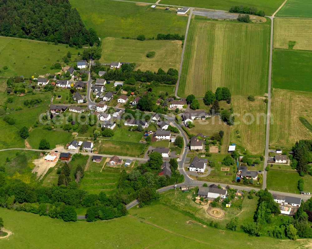
M145 144L130 141L109 141L101 140L96 142L99 154L117 155L117 156L140 156Z

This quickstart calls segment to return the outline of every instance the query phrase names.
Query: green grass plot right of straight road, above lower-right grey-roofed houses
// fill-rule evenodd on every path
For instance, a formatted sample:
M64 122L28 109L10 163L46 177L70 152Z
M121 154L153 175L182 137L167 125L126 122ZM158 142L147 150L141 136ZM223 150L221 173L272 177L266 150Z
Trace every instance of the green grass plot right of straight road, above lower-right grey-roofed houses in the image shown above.
M269 170L267 175L267 188L280 192L300 194L298 181L304 180L304 191L312 192L312 176L301 177L298 172Z

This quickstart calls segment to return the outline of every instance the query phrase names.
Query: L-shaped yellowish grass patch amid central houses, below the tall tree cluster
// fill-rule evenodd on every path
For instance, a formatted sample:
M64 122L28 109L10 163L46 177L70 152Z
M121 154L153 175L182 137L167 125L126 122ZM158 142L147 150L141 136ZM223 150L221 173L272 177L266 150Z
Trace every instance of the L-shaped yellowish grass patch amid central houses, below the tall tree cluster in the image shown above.
M187 127L187 129L191 134L194 134L195 136L198 133L202 133L204 136L212 136L215 133L218 133L219 131L223 130L224 136L222 140L221 153L227 153L228 146L230 143L230 133L232 129L231 126L222 122L219 116L214 116L206 120L197 119L194 120L193 123L195 127L193 128Z

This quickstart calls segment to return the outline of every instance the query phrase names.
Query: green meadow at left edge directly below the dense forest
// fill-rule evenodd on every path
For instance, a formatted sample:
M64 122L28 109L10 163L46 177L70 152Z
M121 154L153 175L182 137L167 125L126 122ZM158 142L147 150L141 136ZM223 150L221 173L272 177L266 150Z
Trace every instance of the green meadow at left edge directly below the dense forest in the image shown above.
M61 60L70 51L72 60L77 57L76 48L53 45L42 41L0 37L0 76L23 75L38 77L40 74L55 73L51 65ZM8 69L4 70L3 66Z

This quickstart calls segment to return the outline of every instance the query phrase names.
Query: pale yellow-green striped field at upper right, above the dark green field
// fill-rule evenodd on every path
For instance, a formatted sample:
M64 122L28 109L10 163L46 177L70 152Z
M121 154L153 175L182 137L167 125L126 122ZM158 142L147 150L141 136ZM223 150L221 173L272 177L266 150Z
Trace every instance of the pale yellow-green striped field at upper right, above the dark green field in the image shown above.
M295 41L293 49L312 50L311 37L312 19L274 19L275 48L288 48L288 42Z

